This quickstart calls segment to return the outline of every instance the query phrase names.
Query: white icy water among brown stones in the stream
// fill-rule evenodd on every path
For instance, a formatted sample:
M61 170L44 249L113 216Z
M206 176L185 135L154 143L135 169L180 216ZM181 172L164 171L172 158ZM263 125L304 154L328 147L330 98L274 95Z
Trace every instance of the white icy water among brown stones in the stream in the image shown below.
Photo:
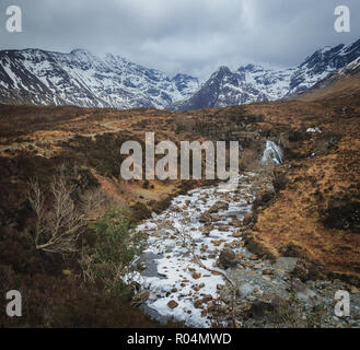
M251 211L254 200L252 176L254 174L240 176L236 188L229 184L228 187L198 188L178 196L166 211L137 228L137 231L148 234L147 249L137 260L142 260L147 268L127 276L126 280L133 279L140 283L142 292L149 291L144 307L151 311L149 314L158 315L158 319L185 322L191 327L211 326L204 307L197 308L195 303L205 295L217 299L218 285L225 284L225 281L222 276L194 262L193 254L184 247L181 233L190 235L195 242L195 254L211 269L217 269L216 261L225 245L233 244L235 253L243 253L241 238L233 237L239 229L232 225L232 221L242 220ZM211 213L211 223L205 226L200 222L201 214L218 202L228 203L228 210L223 208ZM178 305L171 308L171 301Z

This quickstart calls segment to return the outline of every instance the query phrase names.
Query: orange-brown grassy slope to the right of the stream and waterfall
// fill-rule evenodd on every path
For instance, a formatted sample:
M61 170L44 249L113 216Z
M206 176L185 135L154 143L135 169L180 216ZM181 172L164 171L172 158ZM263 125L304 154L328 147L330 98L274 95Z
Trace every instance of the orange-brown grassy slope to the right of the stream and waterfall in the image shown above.
M356 283L360 277L359 102L355 96L264 108L274 120L275 108L281 114L286 106L292 131L281 138L287 162L279 171L286 186L260 208L252 233L275 256L288 245L300 246L303 257ZM304 132L314 126L323 133Z

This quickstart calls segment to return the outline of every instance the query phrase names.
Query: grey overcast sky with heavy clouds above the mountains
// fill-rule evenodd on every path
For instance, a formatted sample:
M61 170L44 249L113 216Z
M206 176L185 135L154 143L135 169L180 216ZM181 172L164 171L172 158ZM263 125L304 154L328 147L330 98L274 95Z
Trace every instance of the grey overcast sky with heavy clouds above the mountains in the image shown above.
M360 38L359 0L0 0L0 48L120 54L169 75L208 78L219 66L290 67L326 45ZM20 5L23 33L5 31ZM336 33L346 4L351 32Z

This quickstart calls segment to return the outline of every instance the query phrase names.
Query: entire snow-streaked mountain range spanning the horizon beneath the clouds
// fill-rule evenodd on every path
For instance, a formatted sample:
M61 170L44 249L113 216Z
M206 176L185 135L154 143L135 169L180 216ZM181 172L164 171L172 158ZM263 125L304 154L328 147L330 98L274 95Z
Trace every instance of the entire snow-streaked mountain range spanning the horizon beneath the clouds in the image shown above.
M183 110L276 101L309 90L358 57L360 39L320 49L295 68L247 65L232 72L222 66L201 85L197 78L171 79L111 54L2 50L0 103Z

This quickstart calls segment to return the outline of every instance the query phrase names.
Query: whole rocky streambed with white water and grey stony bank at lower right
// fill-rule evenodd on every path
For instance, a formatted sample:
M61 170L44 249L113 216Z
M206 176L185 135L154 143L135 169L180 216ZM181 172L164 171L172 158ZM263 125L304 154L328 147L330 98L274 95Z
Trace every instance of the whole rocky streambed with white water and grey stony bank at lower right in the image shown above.
M360 327L358 289L339 280L303 281L301 259L268 260L246 248L254 176L241 176L235 190L222 184L175 197L137 228L148 247L127 281L137 283L141 310L190 327ZM350 317L335 315L338 290L351 293Z

